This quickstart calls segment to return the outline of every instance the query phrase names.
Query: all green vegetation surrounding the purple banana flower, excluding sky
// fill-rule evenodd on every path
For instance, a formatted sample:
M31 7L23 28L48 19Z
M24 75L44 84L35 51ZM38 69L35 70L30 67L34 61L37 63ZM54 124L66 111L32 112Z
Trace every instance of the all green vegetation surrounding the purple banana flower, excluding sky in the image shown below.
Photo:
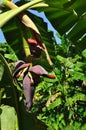
M23 8L25 4L28 6ZM12 5L12 1L3 0L0 6L0 27L6 38L6 43L0 43L0 129L85 130L86 2L20 0L16 3L19 7ZM24 13L35 24L32 21L26 23L21 18L20 12L30 8L44 11L58 31L60 44L56 43L53 32L48 30L42 18L29 11ZM40 55L36 51L40 57L31 58L27 42L33 38L31 29L40 32L39 37L49 54L42 51ZM26 110L22 83L13 81L14 63L18 60L31 62L33 66L39 64L56 76L55 79L41 77L30 111Z

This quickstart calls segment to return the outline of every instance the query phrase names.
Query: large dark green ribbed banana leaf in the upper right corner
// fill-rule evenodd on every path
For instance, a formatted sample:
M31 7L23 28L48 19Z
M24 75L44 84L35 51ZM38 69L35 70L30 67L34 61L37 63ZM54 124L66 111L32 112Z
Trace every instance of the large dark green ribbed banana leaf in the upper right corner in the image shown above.
M49 5L44 10L46 17L53 27L72 41L80 45L81 50L86 48L86 2L84 0L45 0Z

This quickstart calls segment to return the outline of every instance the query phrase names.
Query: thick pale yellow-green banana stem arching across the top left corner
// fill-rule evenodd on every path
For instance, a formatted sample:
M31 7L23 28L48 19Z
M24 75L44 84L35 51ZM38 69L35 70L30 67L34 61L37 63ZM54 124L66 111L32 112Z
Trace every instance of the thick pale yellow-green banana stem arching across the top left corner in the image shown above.
M20 7L16 7L15 4L13 4L11 1L3 0L2 4L6 7L11 8L12 10L6 11L5 13L0 14L0 27L2 27L6 22L8 22L11 18L18 15L22 11L32 8L32 7L40 7L40 4L42 3L43 6L43 0L33 0L31 2L28 2ZM48 5L44 3L44 6L47 7ZM16 7L16 8L14 8ZM9 14L9 15L8 15Z

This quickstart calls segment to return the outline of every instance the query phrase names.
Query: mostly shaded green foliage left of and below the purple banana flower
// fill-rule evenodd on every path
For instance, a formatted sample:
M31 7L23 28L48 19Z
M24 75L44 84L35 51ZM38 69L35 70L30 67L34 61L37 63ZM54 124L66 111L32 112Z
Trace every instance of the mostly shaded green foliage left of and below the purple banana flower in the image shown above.
M2 48L2 49L1 49ZM37 130L46 129L46 125L39 121L33 113L28 113L24 104L22 88L14 84L12 71L17 60L8 44L1 44L0 54L0 127L2 130ZM3 50L5 48L5 50ZM2 51L3 50L3 51ZM5 51L5 52L4 52ZM10 59L11 51L14 59ZM8 54L9 57L5 57ZM8 62L7 62L8 61ZM12 106L12 107L11 107ZM11 121L10 121L11 120ZM9 122L9 123L8 123ZM28 123L29 122L29 123Z

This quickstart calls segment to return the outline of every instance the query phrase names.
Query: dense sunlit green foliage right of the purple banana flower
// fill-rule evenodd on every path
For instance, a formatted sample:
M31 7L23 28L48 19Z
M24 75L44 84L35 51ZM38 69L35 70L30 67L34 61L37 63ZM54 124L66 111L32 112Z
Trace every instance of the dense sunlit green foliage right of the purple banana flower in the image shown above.
M64 50L62 44L56 46ZM72 54L67 58L62 55L56 56L54 64L53 72L56 74L56 79L52 81L45 78L37 87L32 111L39 113L38 119L45 122L51 130L63 130L63 128L84 130L86 128L85 58L77 53L75 57L72 57Z

